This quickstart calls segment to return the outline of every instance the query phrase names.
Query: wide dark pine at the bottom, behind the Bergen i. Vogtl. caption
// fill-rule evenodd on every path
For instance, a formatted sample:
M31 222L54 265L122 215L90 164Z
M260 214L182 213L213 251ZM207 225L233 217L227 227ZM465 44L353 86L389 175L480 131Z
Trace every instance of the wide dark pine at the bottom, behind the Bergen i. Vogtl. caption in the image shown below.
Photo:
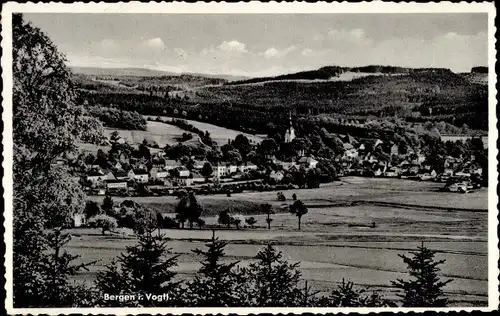
M153 236L151 231L139 235L137 245L127 247L116 262L106 266L106 270L97 274L95 282L100 293L135 294L136 300L105 301L104 306L173 306L178 297L178 281L171 269L177 266L178 256L164 257L170 252L167 242L162 237ZM148 295L167 295L169 300L158 302Z

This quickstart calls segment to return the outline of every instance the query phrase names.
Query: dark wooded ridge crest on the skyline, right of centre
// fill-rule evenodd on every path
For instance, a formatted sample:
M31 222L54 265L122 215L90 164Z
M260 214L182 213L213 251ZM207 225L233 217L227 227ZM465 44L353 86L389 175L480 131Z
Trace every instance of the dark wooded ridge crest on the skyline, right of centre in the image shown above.
M248 80L232 81L228 84L249 84L261 83L268 81L291 81L291 80L335 80L344 73L359 73L364 75L351 76L353 78L363 77L368 75L398 75L410 74L419 72L432 72L432 73L452 73L451 70L446 68L405 68L397 66L380 66L369 65L362 67L340 67L340 66L326 66L316 70L301 71L291 74L285 74L275 77L261 77L252 78Z

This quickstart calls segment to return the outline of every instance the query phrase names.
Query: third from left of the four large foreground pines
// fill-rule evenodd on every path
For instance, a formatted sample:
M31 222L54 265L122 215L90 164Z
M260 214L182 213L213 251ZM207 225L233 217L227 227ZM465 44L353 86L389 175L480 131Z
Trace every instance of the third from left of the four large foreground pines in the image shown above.
M267 245L257 253L257 262L245 270L250 284L251 306L290 307L303 303L299 287L299 263L289 264L281 252Z

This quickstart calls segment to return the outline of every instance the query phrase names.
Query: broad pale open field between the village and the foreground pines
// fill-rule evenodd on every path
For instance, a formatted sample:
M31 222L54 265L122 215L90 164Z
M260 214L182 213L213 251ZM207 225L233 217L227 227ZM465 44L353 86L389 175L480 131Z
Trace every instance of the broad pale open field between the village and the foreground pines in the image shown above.
M300 262L303 278L320 291L332 289L345 278L362 287L382 289L388 298L395 298L390 280L408 277L397 255L416 249L423 241L438 251L438 259L447 260L441 277L453 279L446 287L452 304L485 305L487 190L471 194L436 192L440 186L349 177L319 189L284 191L285 203L291 203L291 195L296 193L309 207L301 231L297 230L296 217L280 211L283 202L276 200L276 192L199 196L198 200L209 210L204 219L214 227L216 211L229 205L234 207L234 214L256 214L252 215L257 219L255 228L217 229L216 235L229 243L229 261L249 264L263 245L272 242L286 259ZM173 197L132 199L167 213L177 203ZM255 211L264 202L271 203L277 211L271 230L265 227L265 216ZM372 223L375 227L371 227ZM191 278L199 268L199 258L191 250L204 247L212 232L178 229L163 233L171 239L173 253L180 255L179 278ZM103 237L89 229L75 229L73 235L70 252L82 254L84 261L101 260L88 273L78 276L89 282L104 264L135 242L127 237Z

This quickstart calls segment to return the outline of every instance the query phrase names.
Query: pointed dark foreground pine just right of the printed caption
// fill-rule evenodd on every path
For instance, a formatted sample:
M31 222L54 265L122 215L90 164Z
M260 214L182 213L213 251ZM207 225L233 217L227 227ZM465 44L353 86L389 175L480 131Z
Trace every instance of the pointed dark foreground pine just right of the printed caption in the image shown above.
M184 292L183 302L188 306L239 307L247 304L245 277L236 267L239 262L221 262L226 245L226 242L215 238L214 232L212 241L206 244L207 250L193 250L204 259L198 274Z

